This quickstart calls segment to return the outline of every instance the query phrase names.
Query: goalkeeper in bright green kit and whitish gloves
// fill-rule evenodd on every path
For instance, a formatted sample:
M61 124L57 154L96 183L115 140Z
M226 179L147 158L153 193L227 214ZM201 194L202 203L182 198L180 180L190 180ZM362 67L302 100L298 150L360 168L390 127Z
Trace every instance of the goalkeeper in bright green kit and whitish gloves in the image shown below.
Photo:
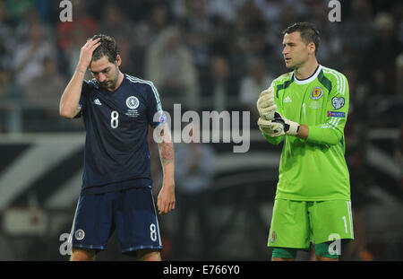
M346 76L319 65L319 31L299 22L283 31L288 69L257 101L258 125L270 144L284 140L268 246L272 260L294 260L311 243L318 260L338 260L353 240L344 126Z

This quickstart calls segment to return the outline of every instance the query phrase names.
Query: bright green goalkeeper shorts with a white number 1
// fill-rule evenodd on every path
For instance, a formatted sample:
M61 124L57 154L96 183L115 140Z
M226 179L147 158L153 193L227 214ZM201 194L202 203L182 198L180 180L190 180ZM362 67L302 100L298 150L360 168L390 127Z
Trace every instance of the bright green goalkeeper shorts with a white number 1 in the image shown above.
M274 201L268 247L309 249L311 242L353 239L350 201Z

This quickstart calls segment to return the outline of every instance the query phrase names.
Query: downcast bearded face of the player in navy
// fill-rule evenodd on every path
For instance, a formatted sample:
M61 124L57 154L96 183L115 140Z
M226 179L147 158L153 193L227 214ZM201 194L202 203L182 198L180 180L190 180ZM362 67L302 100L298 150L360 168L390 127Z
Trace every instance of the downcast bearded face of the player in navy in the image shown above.
M108 91L115 91L120 63L121 59L119 56L117 56L115 63L110 62L106 56L103 56L91 62L90 71L102 87Z

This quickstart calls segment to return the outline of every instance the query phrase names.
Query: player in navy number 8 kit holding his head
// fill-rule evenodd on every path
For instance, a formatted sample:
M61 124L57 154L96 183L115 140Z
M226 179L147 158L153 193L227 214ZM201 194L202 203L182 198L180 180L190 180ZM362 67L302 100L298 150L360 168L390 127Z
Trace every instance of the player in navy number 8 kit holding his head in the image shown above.
M174 145L153 83L123 74L116 40L95 35L60 100L60 115L82 118L86 130L81 195L70 239L71 260L94 260L116 231L122 253L161 260L159 222L151 194L149 126L159 126L164 173L159 214L175 209ZM84 80L90 68L94 78Z

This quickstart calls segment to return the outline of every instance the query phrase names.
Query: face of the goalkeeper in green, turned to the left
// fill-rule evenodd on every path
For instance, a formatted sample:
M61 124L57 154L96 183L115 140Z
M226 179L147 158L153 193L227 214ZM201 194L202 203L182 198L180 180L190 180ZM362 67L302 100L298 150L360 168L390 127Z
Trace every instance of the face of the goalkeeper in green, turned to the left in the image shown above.
M286 33L283 39L283 46L283 57L289 69L301 67L308 60L310 53L314 53L314 44L306 44L301 38L299 31Z

